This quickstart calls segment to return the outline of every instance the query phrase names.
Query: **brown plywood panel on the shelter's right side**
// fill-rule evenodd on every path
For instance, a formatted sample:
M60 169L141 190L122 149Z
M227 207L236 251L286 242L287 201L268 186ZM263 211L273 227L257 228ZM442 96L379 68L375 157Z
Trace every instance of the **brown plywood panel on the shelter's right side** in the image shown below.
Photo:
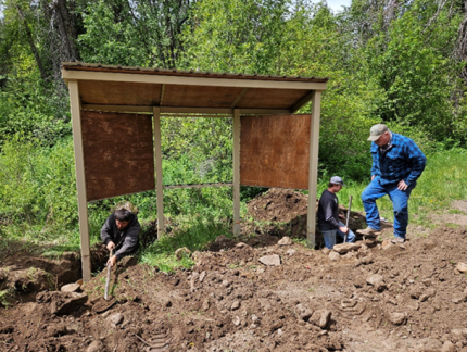
M242 116L240 185L308 189L311 115Z

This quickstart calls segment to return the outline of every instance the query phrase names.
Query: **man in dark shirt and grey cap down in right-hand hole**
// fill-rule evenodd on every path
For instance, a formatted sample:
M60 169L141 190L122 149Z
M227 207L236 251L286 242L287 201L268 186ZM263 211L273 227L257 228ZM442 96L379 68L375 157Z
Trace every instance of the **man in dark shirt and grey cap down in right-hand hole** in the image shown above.
M355 242L355 235L352 232L339 218L345 218L339 214L339 199L336 193L344 187L341 177L332 176L328 184L328 189L325 189L318 205L318 228L323 234L325 246L332 249L336 244L336 235L345 238L346 242Z

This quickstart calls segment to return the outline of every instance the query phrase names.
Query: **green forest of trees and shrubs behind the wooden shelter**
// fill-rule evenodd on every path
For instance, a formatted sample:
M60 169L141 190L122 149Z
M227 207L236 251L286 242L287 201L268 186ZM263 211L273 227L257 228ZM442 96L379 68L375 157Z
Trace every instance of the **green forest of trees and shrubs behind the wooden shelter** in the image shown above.
M351 185L369 179L366 138L375 123L413 138L429 161L466 160L467 1L353 0L336 13L326 1L306 0L0 5L4 239L79 247L62 62L329 77L321 105L321 185L332 174ZM163 118L162 138L164 184L231 180L231 120ZM263 191L242 187L243 216L245 202ZM226 235L231 199L229 188L167 190L164 212L185 234ZM139 208L142 222L156 218L151 191L90 203L93 241L122 200Z

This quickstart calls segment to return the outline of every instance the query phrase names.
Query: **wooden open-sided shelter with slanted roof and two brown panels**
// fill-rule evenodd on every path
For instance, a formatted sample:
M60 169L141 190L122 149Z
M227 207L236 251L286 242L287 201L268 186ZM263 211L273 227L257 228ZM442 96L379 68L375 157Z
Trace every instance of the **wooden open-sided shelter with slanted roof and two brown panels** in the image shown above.
M63 63L62 76L70 89L85 281L91 275L89 201L155 189L157 231L163 234L164 188L229 186L238 235L240 185L316 194L320 96L327 78L77 62ZM311 115L293 115L310 101ZM161 116L234 117L232 181L164 186ZM308 197L312 247L315 223L315 197Z

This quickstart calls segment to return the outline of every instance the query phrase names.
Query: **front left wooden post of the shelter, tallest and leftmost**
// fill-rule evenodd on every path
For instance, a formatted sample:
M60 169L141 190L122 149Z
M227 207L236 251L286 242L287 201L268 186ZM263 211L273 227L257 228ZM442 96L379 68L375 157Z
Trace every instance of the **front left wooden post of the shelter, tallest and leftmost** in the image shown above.
M75 149L83 281L88 282L91 279L91 256L89 250L88 203L86 196L85 159L83 153L81 112L79 106L78 83L76 80L70 80L68 90L70 105L72 110L73 146Z

